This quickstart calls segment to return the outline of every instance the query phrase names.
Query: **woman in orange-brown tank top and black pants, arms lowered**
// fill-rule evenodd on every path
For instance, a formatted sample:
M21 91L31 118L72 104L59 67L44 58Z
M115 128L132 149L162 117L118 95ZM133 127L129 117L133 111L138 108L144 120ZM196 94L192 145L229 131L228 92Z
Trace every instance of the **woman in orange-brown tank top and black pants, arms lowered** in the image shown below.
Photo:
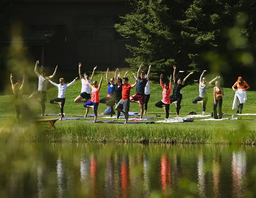
M214 119L218 119L217 115L217 105L219 104L219 119L222 118L222 97L224 96L224 92L222 87L220 87L220 83L218 81L215 82L215 87L213 88L213 117Z

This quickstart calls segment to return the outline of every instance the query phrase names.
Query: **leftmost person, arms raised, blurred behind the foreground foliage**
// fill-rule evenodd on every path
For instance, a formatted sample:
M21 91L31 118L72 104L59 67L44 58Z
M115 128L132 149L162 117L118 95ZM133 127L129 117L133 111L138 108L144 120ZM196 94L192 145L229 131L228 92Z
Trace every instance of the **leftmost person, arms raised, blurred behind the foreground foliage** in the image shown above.
M24 84L24 81L25 81L25 74L23 75L23 81L22 81L21 86L20 86L19 83L13 84L12 74L11 74L10 79L11 79L11 84L12 84L12 91L13 91L13 94L14 94L14 105L15 105L15 110L16 110L16 121L17 121L17 124L19 124L20 108L23 104L22 90L23 90L23 84Z

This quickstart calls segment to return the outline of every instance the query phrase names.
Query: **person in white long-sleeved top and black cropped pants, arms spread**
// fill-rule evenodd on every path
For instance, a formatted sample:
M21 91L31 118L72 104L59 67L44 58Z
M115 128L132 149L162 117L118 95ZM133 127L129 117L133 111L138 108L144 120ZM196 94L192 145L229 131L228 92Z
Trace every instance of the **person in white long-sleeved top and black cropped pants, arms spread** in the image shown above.
M55 87L58 87L58 98L52 99L50 100L51 104L57 104L60 105L60 119L62 120L63 118L63 107L65 105L65 92L66 89L73 83L75 83L75 81L77 80L78 77L76 77L71 83L69 84L65 84L64 78L60 78L60 84L57 83L53 83L49 77L45 77L46 79L49 80L50 83L52 83Z

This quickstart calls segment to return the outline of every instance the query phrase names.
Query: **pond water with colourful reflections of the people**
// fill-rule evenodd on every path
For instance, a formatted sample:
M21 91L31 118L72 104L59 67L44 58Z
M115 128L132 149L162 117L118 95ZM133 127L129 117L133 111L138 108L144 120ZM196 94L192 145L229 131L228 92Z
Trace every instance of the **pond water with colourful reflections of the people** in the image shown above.
M0 197L255 197L253 146L4 144Z

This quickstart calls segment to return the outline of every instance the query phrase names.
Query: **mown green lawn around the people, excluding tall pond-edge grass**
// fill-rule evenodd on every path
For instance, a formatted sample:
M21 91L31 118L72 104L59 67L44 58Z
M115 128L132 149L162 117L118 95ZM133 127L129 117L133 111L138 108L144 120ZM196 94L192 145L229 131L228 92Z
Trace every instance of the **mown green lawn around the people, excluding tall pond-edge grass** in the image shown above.
M121 75L124 75L124 72L121 73ZM110 72L109 78L111 76L114 76L114 72ZM129 82L134 83L134 77L132 75L128 75ZM65 78L65 76L64 76ZM94 80L100 81L100 76L98 74L95 75ZM167 80L167 79L166 79ZM53 82L58 82L58 79L53 79ZM83 103L76 104L74 103L74 99L76 96L80 94L81 91L81 82L80 80L71 85L67 88L66 91L66 103L64 106L64 112L67 114L66 117L72 116L72 115L84 115L85 114L85 108L83 107ZM192 100L198 97L199 91L198 91L198 83L193 85L188 85L182 89L183 92L183 99L181 102L181 110L180 110L180 117L185 117L188 115L189 112L195 111L198 114L202 113L202 106L200 104L192 104ZM132 89L131 95L135 93L135 88ZM157 121L157 120L164 120L165 113L162 109L155 107L155 103L162 99L162 88L159 83L150 82L150 100L148 103L148 112L146 115L147 117L153 117L155 115L161 115L161 117L150 119L150 121ZM207 88L208 93L208 102L206 106L206 115L211 114L213 112L213 85L209 86ZM256 102L254 100L255 98L255 91L247 91L247 98L248 100L244 104L243 113L256 113ZM103 78L103 84L102 88L100 90L100 98L105 97L107 95L107 84L105 76ZM46 103L46 111L45 114L58 114L60 113L60 108L58 105L52 105L49 103L50 99L57 98L58 96L58 89L54 86L52 86L51 83L48 83L48 91L47 91L47 103ZM15 109L14 105L12 104L12 95L6 95L0 97L1 102L1 108L0 108L0 126L6 127L6 126L12 126L15 124ZM28 101L28 95L24 95L23 99L30 104L35 110L35 115L41 114L41 106L38 103L31 103ZM222 105L222 111L227 114L227 116L223 116L223 118L231 118L231 115L234 114L236 116L236 110L232 110L232 104L234 99L234 91L231 88L224 88L224 98L223 98L223 105ZM98 109L98 114L103 113L106 109L105 104L100 104ZM131 103L130 111L132 112L140 112L139 104L137 103ZM89 114L93 114L92 109L90 109ZM176 107L175 105L171 105L170 107L170 116L175 117L176 116ZM139 116L132 116L132 117L139 117ZM238 129L243 130L250 130L255 131L256 126L256 116L238 116L239 120L224 120L224 121L200 121L202 118L196 118L194 119L194 123L156 123L151 124L150 126L147 124L128 124L124 127L124 125L121 124L109 124L109 123L103 123L103 124L93 124L93 123L84 123L85 121L93 120L93 117L90 118L82 118L77 120L65 120L65 121L57 121L56 122L56 128L58 129L65 129L68 128L77 128L78 126L81 127L88 127L88 128L95 128L95 130L99 128L112 128L113 130L141 130L143 131L144 128L150 128L153 131L158 131L158 129L168 129L168 130L178 130L178 131L190 131L193 133L193 131L228 131L228 130L234 130L237 131ZM42 117L39 117L42 118ZM46 117L44 117L46 118ZM47 116L47 118L51 118L51 116ZM54 118L54 117L52 117ZM22 119L22 115L21 115ZM98 120L105 119L98 117ZM6 122L7 121L7 122ZM94 126L92 126L94 125ZM143 130L142 130L143 129ZM174 131L175 131L174 130Z

